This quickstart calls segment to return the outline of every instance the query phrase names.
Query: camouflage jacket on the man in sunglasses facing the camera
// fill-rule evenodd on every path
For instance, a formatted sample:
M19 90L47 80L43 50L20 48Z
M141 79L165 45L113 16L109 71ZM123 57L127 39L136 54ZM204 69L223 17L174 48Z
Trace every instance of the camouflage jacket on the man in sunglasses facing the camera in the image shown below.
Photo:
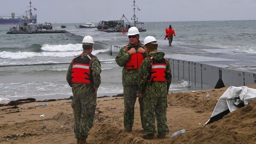
M137 48L139 48L141 46L141 42L139 41L138 45L131 45L130 43L128 43L128 45L130 45L131 48L135 48L137 50ZM146 51L143 55L145 57L148 56ZM120 67L123 67L123 66L125 66L126 62L128 62L129 59L130 59L130 56L129 56L128 52L126 52L126 46L124 46L123 48L121 48L119 50L118 54L116 55L116 63ZM138 69L127 70L127 69L123 68L123 70L122 70L122 85L124 85L124 86L125 85L138 85L138 79L139 79Z

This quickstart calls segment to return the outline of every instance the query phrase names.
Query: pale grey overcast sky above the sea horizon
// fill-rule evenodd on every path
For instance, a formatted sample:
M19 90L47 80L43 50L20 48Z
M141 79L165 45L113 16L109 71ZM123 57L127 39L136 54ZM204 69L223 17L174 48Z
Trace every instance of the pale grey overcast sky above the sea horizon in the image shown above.
M256 0L135 0L139 21L256 20ZM31 0L38 23L131 22L133 0ZM29 0L0 0L0 15L24 14Z

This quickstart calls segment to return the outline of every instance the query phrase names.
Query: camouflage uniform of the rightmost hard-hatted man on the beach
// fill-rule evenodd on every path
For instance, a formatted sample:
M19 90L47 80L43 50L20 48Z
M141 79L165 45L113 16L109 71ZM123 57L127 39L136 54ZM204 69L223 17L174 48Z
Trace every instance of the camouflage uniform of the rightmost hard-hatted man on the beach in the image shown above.
M148 55L153 56L153 59L160 61L163 59L164 53L154 50ZM147 82L148 78L150 77L151 65L151 59L147 57L143 60L143 63L139 69L139 93L143 93L144 104L144 132L147 135L155 133L154 122L156 117L157 132L166 134L166 132L169 132L166 119L166 96L171 85L171 66L166 59L166 77L169 81Z

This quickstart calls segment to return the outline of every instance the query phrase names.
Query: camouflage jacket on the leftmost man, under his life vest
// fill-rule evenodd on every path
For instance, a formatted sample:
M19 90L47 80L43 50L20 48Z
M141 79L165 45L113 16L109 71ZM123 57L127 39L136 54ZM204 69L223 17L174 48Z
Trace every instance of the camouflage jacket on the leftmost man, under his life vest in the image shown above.
M87 54L90 54L89 52L86 52L86 51L83 51L82 55L87 55ZM100 82L101 82L101 78L100 78L100 73L101 73L101 65L100 65L100 62L99 62L99 59L94 56L92 59L91 59L91 62L90 62L90 71L91 71L91 74L93 76L93 85L96 87L96 88L99 88L99 85L100 85ZM71 83L71 73L72 73L72 62L70 63L70 66L68 68L68 71L67 71L67 83L70 85L70 87L77 87L77 86L81 86L81 87L84 87L85 85L87 84L76 84L76 83Z

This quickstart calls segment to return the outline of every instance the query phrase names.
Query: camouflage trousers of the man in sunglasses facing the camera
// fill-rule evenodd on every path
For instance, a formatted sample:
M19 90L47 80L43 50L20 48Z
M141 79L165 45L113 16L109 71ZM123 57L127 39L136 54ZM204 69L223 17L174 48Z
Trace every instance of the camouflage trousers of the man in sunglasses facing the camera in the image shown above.
M138 85L125 85L124 86L124 126L131 127L134 124L134 105L137 99ZM139 98L140 103L140 120L142 127L143 123L143 98Z

